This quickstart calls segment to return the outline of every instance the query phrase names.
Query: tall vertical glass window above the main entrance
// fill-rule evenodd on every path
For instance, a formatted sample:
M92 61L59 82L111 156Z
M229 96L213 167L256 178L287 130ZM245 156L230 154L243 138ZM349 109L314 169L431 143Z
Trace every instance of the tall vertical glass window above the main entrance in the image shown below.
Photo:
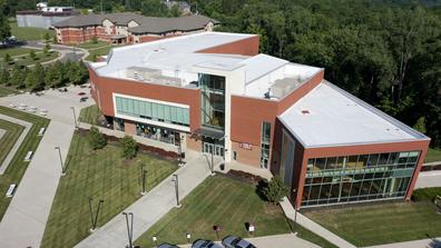
M199 73L202 125L224 130L225 77Z

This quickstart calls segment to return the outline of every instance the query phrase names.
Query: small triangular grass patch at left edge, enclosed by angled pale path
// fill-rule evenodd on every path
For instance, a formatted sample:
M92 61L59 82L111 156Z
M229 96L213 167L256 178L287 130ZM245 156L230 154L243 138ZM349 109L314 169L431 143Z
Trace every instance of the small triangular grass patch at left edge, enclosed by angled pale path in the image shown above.
M0 129L6 131L0 138L0 165L2 165L24 127L0 119Z

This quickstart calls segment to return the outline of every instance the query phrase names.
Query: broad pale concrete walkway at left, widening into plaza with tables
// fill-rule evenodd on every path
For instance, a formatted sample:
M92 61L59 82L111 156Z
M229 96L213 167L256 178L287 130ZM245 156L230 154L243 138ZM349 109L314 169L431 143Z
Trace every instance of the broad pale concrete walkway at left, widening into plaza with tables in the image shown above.
M69 87L68 92L48 90L43 97L17 95L0 98L2 106L24 103L45 108L51 119L0 222L1 248L40 246L61 172L55 147L61 148L66 159L75 129L70 107L79 113L79 109L90 105L79 102L79 91L88 89Z

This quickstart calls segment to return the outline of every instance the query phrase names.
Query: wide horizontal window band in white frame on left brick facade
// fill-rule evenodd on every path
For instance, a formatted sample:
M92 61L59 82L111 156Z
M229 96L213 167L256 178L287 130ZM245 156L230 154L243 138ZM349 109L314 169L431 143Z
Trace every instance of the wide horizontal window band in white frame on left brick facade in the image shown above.
M125 116L189 126L189 109L150 101L116 97L117 112Z

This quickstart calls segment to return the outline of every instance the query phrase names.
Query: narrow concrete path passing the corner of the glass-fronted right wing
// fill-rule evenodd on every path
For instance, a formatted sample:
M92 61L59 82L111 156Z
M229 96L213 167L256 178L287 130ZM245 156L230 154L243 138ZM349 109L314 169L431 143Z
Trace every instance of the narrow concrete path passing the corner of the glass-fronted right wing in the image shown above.
M285 212L286 217L294 220L295 211L294 207L291 205L290 200L285 197L281 202L282 209ZM322 238L326 239L327 241L334 244L341 248L355 248L352 244L347 242L346 240L340 238L339 236L334 235L333 232L329 231L324 227L320 226L318 224L312 221L310 218L305 217L304 215L297 211L297 224L305 227L306 229L315 232L316 235L321 236Z

